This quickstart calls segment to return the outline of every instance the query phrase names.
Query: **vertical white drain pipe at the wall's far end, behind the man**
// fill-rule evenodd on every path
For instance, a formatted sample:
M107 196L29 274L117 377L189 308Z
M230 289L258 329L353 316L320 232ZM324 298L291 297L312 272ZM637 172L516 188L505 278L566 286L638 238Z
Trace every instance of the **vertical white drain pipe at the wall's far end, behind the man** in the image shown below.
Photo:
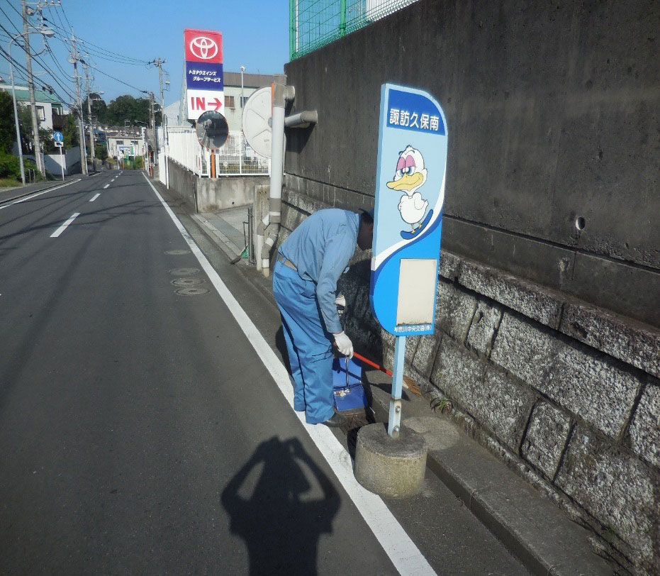
M270 275L270 252L277 241L281 223L282 175L284 173L284 107L287 100L293 100L294 95L293 86L286 86L286 75L276 74L273 84L273 136L268 214L257 226L257 262L261 262L265 277Z

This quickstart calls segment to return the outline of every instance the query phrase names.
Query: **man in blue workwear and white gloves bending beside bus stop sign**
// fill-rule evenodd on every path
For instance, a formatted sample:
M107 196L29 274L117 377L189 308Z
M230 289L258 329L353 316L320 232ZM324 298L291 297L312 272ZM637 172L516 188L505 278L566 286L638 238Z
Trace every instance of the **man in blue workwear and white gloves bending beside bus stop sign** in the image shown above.
M279 248L273 294L282 316L293 375L293 408L308 423L340 426L332 401L332 343L352 357L337 314L337 279L355 251L371 248L374 211L319 210Z

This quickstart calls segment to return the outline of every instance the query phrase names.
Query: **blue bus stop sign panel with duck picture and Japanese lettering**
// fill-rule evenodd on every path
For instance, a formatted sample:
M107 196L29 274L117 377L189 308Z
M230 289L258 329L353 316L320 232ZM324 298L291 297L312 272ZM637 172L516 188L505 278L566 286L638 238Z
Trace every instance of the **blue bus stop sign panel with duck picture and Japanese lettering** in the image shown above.
M422 90L381 87L371 308L394 336L435 331L447 122Z

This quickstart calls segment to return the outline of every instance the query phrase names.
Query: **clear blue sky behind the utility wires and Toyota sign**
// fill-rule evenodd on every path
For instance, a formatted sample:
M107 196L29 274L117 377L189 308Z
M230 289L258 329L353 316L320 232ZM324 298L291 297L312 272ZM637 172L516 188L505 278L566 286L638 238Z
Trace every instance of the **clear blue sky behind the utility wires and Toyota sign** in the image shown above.
M288 0L61 0L62 11L44 9L44 16L60 26L68 23L77 37L137 60L167 60L164 69L171 74L172 90L165 93L165 105L179 99L181 75L184 65L184 28L220 31L223 33L223 60L225 72L273 74L282 72L289 61L289 1ZM11 33L13 26L20 26L16 13L20 0L0 0L0 23ZM9 17L9 21L8 21ZM62 20L60 21L60 18ZM20 27L22 31L22 27ZM41 46L38 37L30 36L35 50ZM8 38L0 33L0 44L5 48ZM53 56L67 74L72 74L69 55L60 40L49 40ZM12 55L20 62L21 51L13 48ZM107 54L106 54L107 55ZM59 71L50 55L42 55L47 67L56 72L57 79L72 91L71 78ZM114 60L119 60L114 58ZM158 94L158 70L145 65L104 60L92 56L91 62L99 71L94 72L94 87L104 91L109 102L120 94L142 96L136 89L150 90ZM35 72L39 65L33 65ZM131 88L111 79L101 72L111 74L130 84ZM0 60L0 75L9 78L9 66ZM18 79L20 82L20 79ZM52 82L49 82L52 84ZM64 90L52 84L56 91Z

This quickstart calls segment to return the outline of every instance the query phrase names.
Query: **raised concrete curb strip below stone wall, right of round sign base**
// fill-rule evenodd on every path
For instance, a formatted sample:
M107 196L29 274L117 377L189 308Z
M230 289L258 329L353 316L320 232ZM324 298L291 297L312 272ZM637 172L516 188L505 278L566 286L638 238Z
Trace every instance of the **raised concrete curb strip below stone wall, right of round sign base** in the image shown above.
M387 421L390 395L379 387L371 389L376 419ZM427 468L527 570L537 576L613 576L614 567L591 551L591 532L571 521L449 419L427 410L425 417L442 419L442 426L455 428L459 438L449 448L430 448Z

